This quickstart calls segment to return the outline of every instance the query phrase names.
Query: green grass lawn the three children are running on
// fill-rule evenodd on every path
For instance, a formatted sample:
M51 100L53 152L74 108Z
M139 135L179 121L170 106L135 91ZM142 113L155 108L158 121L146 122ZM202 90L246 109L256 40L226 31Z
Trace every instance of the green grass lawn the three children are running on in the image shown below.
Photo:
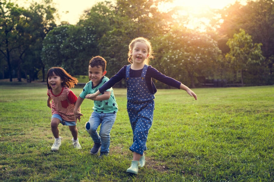
M132 130L126 90L114 88L119 112L110 155L89 154L85 130L93 103L84 100L77 123L81 150L59 125L62 145L51 151L46 85L0 83L0 181L274 181L274 87L159 89L146 165L129 175ZM82 91L72 89L76 95Z

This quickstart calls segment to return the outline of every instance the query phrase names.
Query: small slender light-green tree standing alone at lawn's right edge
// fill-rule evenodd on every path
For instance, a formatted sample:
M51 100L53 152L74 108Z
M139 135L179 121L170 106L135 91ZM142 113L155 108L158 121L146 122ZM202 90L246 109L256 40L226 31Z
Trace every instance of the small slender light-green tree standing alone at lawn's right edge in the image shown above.
M264 60L262 56L261 43L253 44L251 35L240 29L238 34L234 34L233 39L229 39L227 45L230 52L226 54L226 59L235 70L241 70L241 84L244 85L244 71L249 64L260 63Z

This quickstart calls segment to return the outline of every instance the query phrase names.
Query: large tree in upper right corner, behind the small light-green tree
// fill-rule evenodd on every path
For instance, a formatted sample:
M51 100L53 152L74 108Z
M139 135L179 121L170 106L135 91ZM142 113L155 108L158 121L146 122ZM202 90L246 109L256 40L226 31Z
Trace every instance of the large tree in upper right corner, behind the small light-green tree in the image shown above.
M260 65L253 65L253 73L255 70L261 72L261 77L256 77L264 84L273 84L274 62L274 7L273 0L255 0L248 1L247 5L241 5L235 2L234 5L224 8L219 12L222 16L223 23L218 29L220 39L218 45L223 53L228 53L229 48L226 45L228 39L233 38L233 35L238 30L244 29L252 36L254 43L262 43L262 55L265 60ZM262 67L264 67L262 69ZM249 71L250 69L248 69ZM248 74L248 79L254 80L254 75L251 72ZM264 79L264 80L262 80Z

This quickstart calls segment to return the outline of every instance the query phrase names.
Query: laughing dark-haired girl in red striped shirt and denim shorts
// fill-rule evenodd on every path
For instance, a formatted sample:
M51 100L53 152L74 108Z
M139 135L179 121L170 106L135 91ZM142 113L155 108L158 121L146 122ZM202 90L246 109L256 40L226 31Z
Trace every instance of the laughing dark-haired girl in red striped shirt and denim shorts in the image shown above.
M53 67L47 72L47 106L51 108L51 131L55 137L54 144L51 147L52 151L59 150L61 146L62 137L59 136L59 123L68 126L73 136L72 144L74 148L82 148L78 140L77 120L75 120L73 114L77 96L70 89L77 83L78 80L61 67ZM80 122L80 116L77 119Z

